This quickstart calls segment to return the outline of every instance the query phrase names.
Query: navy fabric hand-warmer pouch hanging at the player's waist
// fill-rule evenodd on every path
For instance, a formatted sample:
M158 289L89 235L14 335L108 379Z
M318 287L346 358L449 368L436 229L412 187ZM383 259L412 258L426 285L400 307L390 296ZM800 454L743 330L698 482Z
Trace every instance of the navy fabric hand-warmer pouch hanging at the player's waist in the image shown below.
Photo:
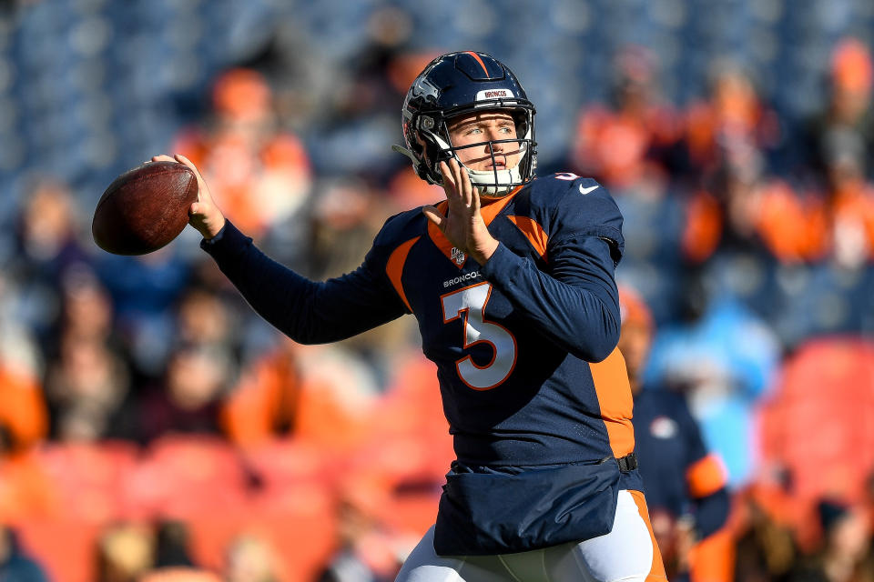
M615 461L515 475L453 466L440 497L434 550L512 554L603 536L613 529L619 476Z

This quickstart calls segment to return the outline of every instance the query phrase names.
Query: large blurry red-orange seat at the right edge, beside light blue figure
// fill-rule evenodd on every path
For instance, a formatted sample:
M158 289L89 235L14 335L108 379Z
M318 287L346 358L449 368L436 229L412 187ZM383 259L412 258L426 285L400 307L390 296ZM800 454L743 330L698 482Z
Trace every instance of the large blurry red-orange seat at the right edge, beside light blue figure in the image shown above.
M762 407L759 432L763 465L788 469L802 505L861 500L874 467L874 343L835 336L799 347Z

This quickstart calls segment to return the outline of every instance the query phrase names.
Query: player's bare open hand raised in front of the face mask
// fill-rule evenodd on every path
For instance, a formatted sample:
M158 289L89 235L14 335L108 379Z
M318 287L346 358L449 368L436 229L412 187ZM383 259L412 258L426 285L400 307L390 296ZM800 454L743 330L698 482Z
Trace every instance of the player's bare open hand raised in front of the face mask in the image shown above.
M480 213L480 193L471 184L467 168L451 159L440 163L443 192L449 209L446 216L434 206L424 206L422 212L460 251L472 256L480 265L493 255L498 241L485 226Z

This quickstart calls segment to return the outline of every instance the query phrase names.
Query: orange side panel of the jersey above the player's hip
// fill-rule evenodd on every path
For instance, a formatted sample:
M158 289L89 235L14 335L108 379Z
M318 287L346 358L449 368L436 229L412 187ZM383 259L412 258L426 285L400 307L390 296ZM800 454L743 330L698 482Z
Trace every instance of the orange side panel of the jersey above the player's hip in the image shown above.
M625 457L635 450L635 428L631 424L634 400L628 382L628 370L625 369L625 358L616 347L604 361L589 364L589 369L613 456Z

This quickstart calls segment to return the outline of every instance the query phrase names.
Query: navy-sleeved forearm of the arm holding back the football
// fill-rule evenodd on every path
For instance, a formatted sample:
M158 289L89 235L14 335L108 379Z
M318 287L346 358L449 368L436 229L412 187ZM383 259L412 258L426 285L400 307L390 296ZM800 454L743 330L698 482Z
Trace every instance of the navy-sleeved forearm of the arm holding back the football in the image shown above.
M373 326L346 316L348 310L331 299L338 295L330 289L336 281L317 283L298 275L264 255L230 223L201 246L259 316L300 344L338 341Z

